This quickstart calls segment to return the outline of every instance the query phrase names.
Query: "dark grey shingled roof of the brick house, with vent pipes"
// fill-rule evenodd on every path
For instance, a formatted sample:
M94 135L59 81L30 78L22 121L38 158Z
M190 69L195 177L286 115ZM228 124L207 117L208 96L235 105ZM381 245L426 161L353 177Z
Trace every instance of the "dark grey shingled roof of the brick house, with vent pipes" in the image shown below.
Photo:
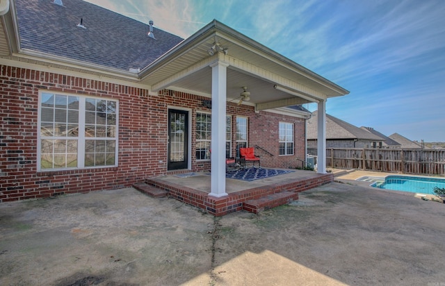
M22 49L129 71L143 69L183 39L82 0L15 0ZM82 24L85 28L77 26Z

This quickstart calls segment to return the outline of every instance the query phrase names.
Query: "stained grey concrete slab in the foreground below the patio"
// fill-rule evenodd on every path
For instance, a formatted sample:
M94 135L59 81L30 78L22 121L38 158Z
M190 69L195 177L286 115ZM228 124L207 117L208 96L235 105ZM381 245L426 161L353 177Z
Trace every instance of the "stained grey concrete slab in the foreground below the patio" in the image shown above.
M215 218L133 190L0 205L0 285L442 285L445 205L331 183Z

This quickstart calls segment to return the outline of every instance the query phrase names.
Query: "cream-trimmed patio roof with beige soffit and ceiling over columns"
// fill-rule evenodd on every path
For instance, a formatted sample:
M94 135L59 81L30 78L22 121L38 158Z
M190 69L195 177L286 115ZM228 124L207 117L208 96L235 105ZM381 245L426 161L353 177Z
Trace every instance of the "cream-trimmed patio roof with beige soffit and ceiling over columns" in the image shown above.
M208 51L215 44L226 52L209 56ZM210 95L209 65L217 60L229 64L227 98L238 97L241 87L247 86L257 110L348 94L339 85L216 20L143 69L140 77L153 90L168 87ZM277 90L274 85L286 87L301 96Z

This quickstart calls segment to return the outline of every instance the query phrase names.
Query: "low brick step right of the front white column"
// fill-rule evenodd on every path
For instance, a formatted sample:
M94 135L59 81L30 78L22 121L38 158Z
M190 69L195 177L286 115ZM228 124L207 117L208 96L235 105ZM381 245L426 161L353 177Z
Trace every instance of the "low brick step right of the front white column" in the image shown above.
M279 192L275 194L262 196L259 199L245 201L243 203L243 210L257 214L262 210L275 208L279 205L286 205L291 201L297 201L297 200L298 200L298 193L296 192Z

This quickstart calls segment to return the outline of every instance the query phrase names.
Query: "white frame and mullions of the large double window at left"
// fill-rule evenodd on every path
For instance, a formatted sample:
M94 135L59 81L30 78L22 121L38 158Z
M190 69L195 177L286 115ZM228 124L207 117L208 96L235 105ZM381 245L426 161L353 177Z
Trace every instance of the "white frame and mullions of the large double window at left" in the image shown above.
M74 96L79 99L79 118L78 118L78 135L77 136L44 136L41 134L42 127L42 97L44 94L52 94L54 96ZM115 135L114 137L94 137L95 140L108 140L114 141L114 164L113 165L98 165L98 166L85 166L85 148L86 148L86 100L87 99L99 99L115 102ZM95 124L97 125L97 124ZM91 138L91 137L90 137ZM64 92L51 92L49 90L39 91L38 97L38 146L37 146L37 171L63 171L72 169L99 169L107 167L118 167L118 150L119 150L119 101L116 99L108 99L99 96L88 96L83 94L68 94ZM77 141L77 166L76 167L62 167L62 168L42 168L42 140L76 140Z

